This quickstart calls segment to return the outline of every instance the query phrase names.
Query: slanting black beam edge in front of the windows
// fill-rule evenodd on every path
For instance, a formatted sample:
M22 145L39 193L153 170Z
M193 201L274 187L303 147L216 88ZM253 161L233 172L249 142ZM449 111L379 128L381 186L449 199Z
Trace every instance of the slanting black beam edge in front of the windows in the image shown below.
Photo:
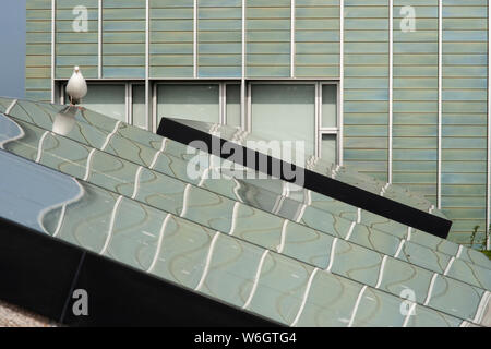
M291 164L273 158L268 155L264 155L260 152L252 151L242 145L228 142L227 140L214 136L209 133L193 129L192 127L182 124L177 120L161 118L157 134L182 143L184 145L189 145L193 141L202 141L207 146L206 149L203 149L204 152L219 156L224 159L227 159L230 156L220 152L223 145L227 143L227 147L232 151L231 154L243 154L242 158L233 158L233 160L239 163L240 165L260 171L259 164L267 164L267 170L262 170L264 173L272 176L273 168L280 168L279 177L288 182L294 181L285 173L285 168L292 168ZM219 144L220 148L215 148L212 146L212 144ZM235 153L235 149L239 153ZM247 158L251 157L256 159L255 164L253 164L252 166L247 161ZM276 165L276 167L273 167L272 165ZM448 236L448 231L452 227L451 220L431 215L423 210L398 203L391 198L376 195L360 188L340 182L326 176L322 176L311 170L302 169L300 167L298 167L297 170L304 171L303 186L306 189L310 189L320 194L339 200L344 203L360 207L373 214L398 221L403 225L410 226L412 228L426 231L443 239L446 239L446 237Z

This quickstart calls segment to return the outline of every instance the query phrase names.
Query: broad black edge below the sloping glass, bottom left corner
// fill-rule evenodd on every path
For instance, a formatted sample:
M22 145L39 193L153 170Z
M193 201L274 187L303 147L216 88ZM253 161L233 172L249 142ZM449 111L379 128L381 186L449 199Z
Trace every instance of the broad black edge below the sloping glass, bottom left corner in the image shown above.
M72 289L88 316L73 315ZM71 326L278 326L2 217L0 299Z

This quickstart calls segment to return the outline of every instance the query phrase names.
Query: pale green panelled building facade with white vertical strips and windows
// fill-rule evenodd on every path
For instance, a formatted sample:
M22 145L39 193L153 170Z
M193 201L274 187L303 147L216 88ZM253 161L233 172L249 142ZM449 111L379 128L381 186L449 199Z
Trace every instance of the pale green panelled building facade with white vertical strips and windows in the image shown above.
M240 125L490 222L487 0L27 0L26 96Z

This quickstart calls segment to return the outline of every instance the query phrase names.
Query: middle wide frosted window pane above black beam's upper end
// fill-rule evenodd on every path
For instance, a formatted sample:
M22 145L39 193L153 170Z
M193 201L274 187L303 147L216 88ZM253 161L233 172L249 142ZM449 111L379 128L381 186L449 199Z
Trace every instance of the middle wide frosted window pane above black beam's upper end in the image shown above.
M158 120L163 117L219 122L219 87L213 85L159 85Z

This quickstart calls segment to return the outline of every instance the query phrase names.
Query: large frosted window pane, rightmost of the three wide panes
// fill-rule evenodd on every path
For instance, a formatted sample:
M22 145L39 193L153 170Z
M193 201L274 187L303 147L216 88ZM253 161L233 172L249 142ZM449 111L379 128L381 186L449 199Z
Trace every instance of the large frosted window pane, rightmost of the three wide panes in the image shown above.
M252 85L252 132L266 140L304 141L314 154L315 86Z

